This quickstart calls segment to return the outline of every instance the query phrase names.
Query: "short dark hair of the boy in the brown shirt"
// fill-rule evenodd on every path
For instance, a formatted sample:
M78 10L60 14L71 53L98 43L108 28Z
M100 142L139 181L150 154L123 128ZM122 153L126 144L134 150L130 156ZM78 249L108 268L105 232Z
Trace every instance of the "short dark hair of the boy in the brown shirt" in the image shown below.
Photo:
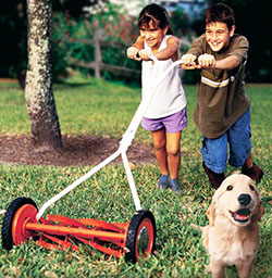
M235 15L233 10L224 3L211 5L205 12L205 24L207 25L214 22L225 23L228 30L231 30L232 26L235 25Z

